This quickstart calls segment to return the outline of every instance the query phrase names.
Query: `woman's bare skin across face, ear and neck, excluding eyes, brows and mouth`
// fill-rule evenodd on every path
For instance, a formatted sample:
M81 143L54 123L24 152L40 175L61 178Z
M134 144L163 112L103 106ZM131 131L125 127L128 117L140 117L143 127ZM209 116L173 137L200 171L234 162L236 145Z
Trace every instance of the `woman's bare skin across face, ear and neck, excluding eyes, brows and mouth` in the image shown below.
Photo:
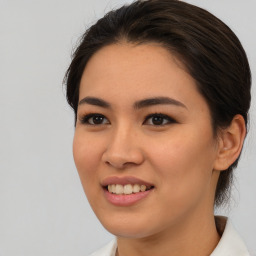
M220 239L215 188L220 170L241 150L243 119L237 116L233 130L214 137L207 102L194 79L157 44L100 49L81 79L79 101L88 96L111 108L79 104L74 160L92 209L117 236L118 255L209 255ZM161 96L184 106L133 108L135 101ZM90 113L103 115L102 123L92 118L91 124L82 123ZM175 121L156 125L145 119L152 113ZM134 176L154 184L154 190L132 206L114 206L101 186L109 176Z

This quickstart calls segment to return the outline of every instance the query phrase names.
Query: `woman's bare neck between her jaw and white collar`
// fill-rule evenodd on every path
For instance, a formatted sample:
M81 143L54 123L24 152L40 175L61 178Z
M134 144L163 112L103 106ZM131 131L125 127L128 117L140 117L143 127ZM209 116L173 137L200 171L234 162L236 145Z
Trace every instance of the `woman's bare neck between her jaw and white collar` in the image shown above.
M213 214L193 216L175 227L146 238L117 237L118 256L205 256L210 255L219 242ZM170 254L171 253L171 254Z

